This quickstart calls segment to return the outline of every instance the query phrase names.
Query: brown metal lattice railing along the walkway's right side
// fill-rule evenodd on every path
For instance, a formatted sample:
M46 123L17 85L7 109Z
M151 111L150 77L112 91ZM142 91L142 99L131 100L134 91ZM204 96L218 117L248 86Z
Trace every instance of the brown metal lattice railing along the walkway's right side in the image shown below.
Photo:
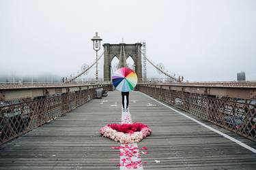
M139 84L139 90L203 120L256 141L256 100L214 97L145 84Z

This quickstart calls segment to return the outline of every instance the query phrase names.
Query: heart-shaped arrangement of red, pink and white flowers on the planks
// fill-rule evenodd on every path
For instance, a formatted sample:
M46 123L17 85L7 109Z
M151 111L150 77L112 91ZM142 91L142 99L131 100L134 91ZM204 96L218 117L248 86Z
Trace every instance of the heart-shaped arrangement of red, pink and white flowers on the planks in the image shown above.
M103 137L109 137L120 143L139 142L152 133L152 130L142 123L107 124L100 129Z

